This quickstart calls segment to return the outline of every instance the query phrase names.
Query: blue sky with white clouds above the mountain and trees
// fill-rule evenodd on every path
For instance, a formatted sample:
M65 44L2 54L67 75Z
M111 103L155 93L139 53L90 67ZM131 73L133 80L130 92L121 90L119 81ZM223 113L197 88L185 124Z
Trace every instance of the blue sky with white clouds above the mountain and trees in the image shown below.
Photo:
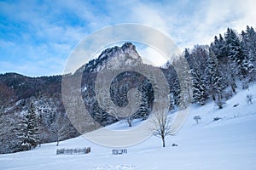
M0 73L61 74L84 37L122 23L152 26L182 50L208 44L227 27L255 28L255 5L253 0L0 0ZM155 54L141 53L147 52Z

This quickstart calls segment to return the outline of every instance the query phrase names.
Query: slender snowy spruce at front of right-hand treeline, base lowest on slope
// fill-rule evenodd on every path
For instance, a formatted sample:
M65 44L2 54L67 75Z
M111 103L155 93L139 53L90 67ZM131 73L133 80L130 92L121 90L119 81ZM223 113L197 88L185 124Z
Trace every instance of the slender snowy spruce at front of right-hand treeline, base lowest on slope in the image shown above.
M212 99L217 102L221 109L223 107L221 102L223 100L224 81L219 71L218 60L211 50L207 61L207 85L208 93L212 95Z

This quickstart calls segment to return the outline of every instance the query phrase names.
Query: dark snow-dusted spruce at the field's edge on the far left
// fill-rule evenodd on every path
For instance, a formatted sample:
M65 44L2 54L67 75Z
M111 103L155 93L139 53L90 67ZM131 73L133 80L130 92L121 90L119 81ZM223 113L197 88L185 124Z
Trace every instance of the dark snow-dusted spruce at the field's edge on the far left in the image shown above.
M33 104L30 105L24 120L20 122L18 131L18 136L20 139L19 151L31 150L39 144L38 116L35 113Z

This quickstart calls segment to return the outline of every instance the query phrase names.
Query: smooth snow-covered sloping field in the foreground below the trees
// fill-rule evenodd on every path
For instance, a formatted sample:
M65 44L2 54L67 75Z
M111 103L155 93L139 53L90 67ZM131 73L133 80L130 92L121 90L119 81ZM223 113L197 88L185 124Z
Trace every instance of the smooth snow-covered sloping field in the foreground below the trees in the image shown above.
M253 94L253 105L246 95ZM234 107L233 105L239 104ZM198 124L194 116L201 116ZM213 121L214 117L222 119ZM139 123L139 122L138 122ZM124 128L124 123L111 125ZM172 147L172 144L177 144ZM94 144L80 136L59 146L42 144L34 150L0 155L0 169L256 169L256 86L237 93L218 110L214 103L193 105L189 117L175 136L151 137L126 148L128 154L112 155L114 148ZM91 147L87 155L55 155L58 148ZM1 146L0 146L1 147Z

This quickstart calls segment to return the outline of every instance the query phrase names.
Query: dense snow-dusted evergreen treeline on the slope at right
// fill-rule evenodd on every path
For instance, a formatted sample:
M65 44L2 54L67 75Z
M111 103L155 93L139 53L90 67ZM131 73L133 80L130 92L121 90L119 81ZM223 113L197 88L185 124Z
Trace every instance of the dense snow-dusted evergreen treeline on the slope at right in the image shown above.
M204 105L213 99L219 108L236 93L238 84L247 88L256 79L256 33L253 27L238 34L228 28L210 45L184 51L193 76L193 102Z

